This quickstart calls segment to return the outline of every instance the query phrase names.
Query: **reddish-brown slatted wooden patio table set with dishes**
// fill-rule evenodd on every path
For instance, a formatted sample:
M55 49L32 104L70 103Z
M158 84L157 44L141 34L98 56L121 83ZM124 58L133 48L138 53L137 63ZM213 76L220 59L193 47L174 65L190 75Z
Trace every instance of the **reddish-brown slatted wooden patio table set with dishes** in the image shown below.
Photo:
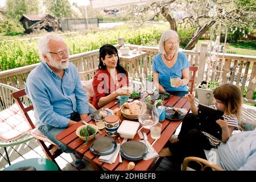
M147 96L147 93L143 92L142 97L146 97L146 96ZM139 98L138 100L141 100L141 98ZM116 107L119 107L119 105L116 104L116 102L117 102L117 100L114 100L114 101L110 102L109 104L105 105L104 107L102 107L102 109L109 108L109 109L113 110ZM190 104L187 101L187 99L177 97L177 96L171 96L167 100L164 100L164 104L179 107L179 108L185 108L185 109L188 109L188 111L190 110ZM123 117L123 115L122 115L120 120L122 122L125 119L126 118ZM130 120L130 119L126 119L126 120ZM95 125L95 121L90 118L90 115L88 115L88 117L86 117L85 121L90 124ZM138 119L134 120L134 121L138 121ZM169 119L166 119L165 121L163 121L161 123L162 123L161 137L158 140L156 140L155 142L154 142L154 139L151 138L150 130L143 129L147 133L148 142L150 142L151 144L154 142L154 144L152 146L155 148L156 152L158 152L158 153L160 152L160 150L162 150L162 148L164 148L164 146L166 145L166 143L168 142L168 139L172 136L172 134L175 133L177 127L181 123L181 120L180 121L170 121ZM90 164L92 164L92 167L94 170L102 170L104 168L109 171L126 171L127 164L130 162L129 160L124 159L122 157L123 162L119 163L119 157L117 157L117 159L115 160L115 163L113 163L113 164L104 163L104 162L101 162L100 160L98 160L97 155L94 155L92 152L90 152L90 149L89 149L90 144L96 138L104 137L106 135L105 129L101 130L102 134L97 133L96 137L94 139L88 141L87 146L84 147L84 146L82 146L82 144L84 144L84 140L81 140L76 135L76 129L81 125L84 125L81 121L77 122L75 125L72 125L71 127L67 128L63 132L57 134L56 139L60 140L64 144L66 144L72 150L75 150L75 151L79 152L80 154L83 154L85 156L85 158L90 162ZM113 138L118 143L118 136L113 137ZM121 140L122 140L122 138L121 138ZM138 136L138 133L136 133L133 140L141 140ZM149 169L154 169L154 164L156 163L156 159L150 159L150 160L141 159L138 161L134 161L134 163L135 163L135 168L133 170L146 171Z

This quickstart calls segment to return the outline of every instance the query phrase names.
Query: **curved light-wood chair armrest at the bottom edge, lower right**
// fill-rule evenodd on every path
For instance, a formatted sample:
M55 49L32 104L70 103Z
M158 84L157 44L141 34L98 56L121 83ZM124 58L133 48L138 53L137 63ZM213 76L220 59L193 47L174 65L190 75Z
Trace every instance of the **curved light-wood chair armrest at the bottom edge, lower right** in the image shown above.
M197 158L197 157L192 157L192 156L189 156L183 160L182 169L181 169L182 171L188 171L188 169L191 170L191 168L188 167L189 162L196 162L196 163L200 164L201 171L204 171L205 168L212 168L215 171L224 171L224 169L218 167L217 165L210 164L208 162L208 160L205 160L202 158Z

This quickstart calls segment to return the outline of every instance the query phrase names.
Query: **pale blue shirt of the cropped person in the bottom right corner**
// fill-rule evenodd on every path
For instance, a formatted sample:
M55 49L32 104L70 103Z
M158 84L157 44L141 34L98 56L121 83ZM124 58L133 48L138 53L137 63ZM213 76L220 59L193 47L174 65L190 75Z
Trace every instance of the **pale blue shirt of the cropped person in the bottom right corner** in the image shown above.
M256 129L232 135L226 143L205 150L205 156L227 171L255 171Z

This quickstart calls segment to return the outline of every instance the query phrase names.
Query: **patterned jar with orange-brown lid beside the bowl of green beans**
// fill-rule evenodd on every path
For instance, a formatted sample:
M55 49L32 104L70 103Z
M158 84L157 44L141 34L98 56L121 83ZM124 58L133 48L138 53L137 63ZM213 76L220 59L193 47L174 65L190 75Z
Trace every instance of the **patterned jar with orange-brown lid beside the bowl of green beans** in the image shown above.
M106 135L108 135L109 137L117 136L118 127L119 127L119 118L116 115L108 115L105 118Z

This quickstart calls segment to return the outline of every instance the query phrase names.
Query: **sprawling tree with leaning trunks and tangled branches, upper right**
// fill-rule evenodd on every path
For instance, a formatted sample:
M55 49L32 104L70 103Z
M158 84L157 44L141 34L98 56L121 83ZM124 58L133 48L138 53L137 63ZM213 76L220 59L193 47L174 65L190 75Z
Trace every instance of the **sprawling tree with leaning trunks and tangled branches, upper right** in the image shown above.
M193 38L185 47L192 49L200 37L218 20L224 21L229 27L240 27L239 31L245 27L255 28L255 9L255 0L171 0L133 6L129 14L139 14L144 22L162 15L170 23L170 28L177 31L174 13L182 12L183 18L177 22L180 27L190 24L196 28ZM151 18L145 18L149 12L152 13Z

